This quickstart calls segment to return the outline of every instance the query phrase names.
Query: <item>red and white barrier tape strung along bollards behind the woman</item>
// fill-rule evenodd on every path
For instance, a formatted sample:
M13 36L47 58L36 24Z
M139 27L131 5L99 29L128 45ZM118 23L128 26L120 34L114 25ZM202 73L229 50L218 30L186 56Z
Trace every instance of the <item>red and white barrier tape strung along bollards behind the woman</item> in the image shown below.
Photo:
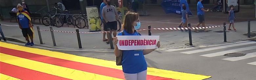
M208 28L216 28L216 27L221 27L221 26L209 26L209 27L192 27L192 28L152 28L152 29L140 29L137 31L142 31L142 30L195 30L195 29L208 29ZM51 30L40 30L40 31L51 31ZM59 30L53 30L56 32L66 32L66 33L76 33L72 31L59 31ZM110 31L101 31L101 32L79 32L79 33L104 33L104 32L110 32ZM118 32L118 31L117 31Z

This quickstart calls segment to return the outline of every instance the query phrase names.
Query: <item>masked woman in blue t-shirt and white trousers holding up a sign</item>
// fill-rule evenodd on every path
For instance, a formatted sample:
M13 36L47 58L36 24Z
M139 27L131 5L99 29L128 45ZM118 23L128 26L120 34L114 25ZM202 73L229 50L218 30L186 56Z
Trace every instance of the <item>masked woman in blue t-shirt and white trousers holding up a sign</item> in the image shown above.
M123 32L118 35L133 35L140 36L138 30L140 28L139 13L130 12L126 13L123 23ZM115 55L121 56L122 53L122 68L125 80L146 80L147 76L147 63L144 55L149 54L155 49L151 50L119 50L117 47L118 39L114 37L113 40L116 45ZM157 43L158 48L160 42Z

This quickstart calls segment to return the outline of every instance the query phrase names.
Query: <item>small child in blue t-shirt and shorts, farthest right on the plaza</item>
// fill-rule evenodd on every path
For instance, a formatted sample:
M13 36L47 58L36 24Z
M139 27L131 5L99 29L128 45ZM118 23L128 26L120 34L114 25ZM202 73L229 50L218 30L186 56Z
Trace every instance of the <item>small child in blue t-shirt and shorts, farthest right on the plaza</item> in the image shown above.
M230 10L228 11L228 15L229 15L229 27L228 27L228 30L231 30L230 27L231 27L231 24L232 24L232 27L234 29L234 31L236 31L236 28L234 27L234 19L235 18L235 15L234 15L234 6L233 5L230 5Z

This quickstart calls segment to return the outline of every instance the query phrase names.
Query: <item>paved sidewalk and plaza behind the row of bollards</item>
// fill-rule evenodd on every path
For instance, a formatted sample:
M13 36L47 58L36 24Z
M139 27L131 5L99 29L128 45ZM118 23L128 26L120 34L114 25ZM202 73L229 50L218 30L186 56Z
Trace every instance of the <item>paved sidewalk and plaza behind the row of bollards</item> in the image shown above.
M190 6L191 7L191 6ZM196 7L196 6L194 6ZM194 14L188 18L188 23L191 23L192 27L195 27L198 18L196 16L197 11L192 9L191 12ZM206 8L207 9L207 8ZM177 27L181 22L180 14L166 14L161 6L146 6L145 10L147 10L149 16L140 16L139 19L141 21L141 29L148 29L148 25L151 25L151 28L174 28ZM245 15L246 13L246 15ZM243 39L248 39L247 36L243 35L247 33L247 20L251 21L251 32L256 31L256 21L255 21L255 11L254 9L240 9L240 12L236 13L235 27L237 31L227 32L227 41L234 42ZM205 25L206 26L223 26L223 23L226 22L226 29L228 29L228 21L227 14L222 12L206 12L205 13ZM254 20L254 21L253 21ZM6 21L1 21L1 23L5 24L14 24L10 23L8 19ZM40 25L38 20L35 21L35 38L34 42L36 45L51 47L51 48L59 48L59 49L77 49L78 42L76 33L66 33L66 32L54 32L55 41L57 46L53 46L53 41L51 37L50 31L41 31L41 35L43 38L43 43L40 44L39 37L36 31L36 26L40 26L41 30L49 30L50 28L44 25ZM22 36L21 30L18 27L12 26L3 26L3 32L6 37L17 39L23 42L25 38ZM53 30L59 31L73 31L75 32L74 26L67 27L64 24L63 27L57 28L53 27ZM103 30L103 29L102 29ZM196 45L214 45L214 44L223 44L224 43L224 35L223 32L218 33L214 31L223 31L222 27L211 28L210 32L192 32L192 44ZM89 29L79 29L80 32L90 32ZM148 35L148 31L139 31L142 35ZM189 46L189 38L188 32L174 31L174 30L152 30L152 35L160 35L161 48L175 48L175 47L188 47ZM84 49L93 49L93 50L110 50L110 45L106 44L102 41L102 33L80 33L82 48Z

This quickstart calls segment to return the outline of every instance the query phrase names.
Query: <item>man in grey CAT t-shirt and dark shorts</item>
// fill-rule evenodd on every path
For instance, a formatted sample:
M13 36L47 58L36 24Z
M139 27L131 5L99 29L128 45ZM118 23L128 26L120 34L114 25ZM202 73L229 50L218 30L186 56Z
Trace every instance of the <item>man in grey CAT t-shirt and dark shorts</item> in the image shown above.
M117 32L116 32L117 19L118 19L117 10L114 6L111 5L110 0L107 0L106 3L107 3L107 6L103 7L102 9L102 16L106 22L107 28L111 29L110 34L113 31L113 36L116 37L117 36ZM106 43L109 44L109 40Z

